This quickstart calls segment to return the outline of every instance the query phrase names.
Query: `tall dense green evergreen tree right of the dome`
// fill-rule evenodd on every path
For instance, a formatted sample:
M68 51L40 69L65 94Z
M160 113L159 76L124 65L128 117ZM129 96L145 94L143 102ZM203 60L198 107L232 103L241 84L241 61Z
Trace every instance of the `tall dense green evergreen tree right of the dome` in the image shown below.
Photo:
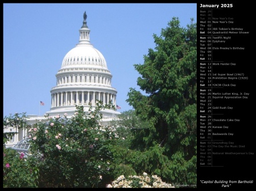
M196 184L197 43L196 23L180 27L172 18L155 51L148 49L144 64L135 64L141 74L126 100L139 118L148 121L135 142L139 150L127 155L137 173L156 173L164 181Z

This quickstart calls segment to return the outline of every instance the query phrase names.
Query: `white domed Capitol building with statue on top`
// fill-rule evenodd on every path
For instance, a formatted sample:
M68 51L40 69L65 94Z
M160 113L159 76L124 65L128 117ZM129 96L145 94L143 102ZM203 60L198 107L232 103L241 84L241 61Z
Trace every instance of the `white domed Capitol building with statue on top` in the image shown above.
M96 107L97 100L101 100L104 105L109 101L116 105L117 90L112 87L112 74L104 56L90 44L90 29L86 18L84 12L82 27L79 29L79 43L64 56L57 71L56 86L51 89L50 111L44 116L28 115L28 124L57 115L67 114L71 117L76 111L76 105L84 106L84 111L88 112L89 103ZM102 125L108 124L120 114L116 109L104 109L101 113ZM19 132L7 142L6 147L12 147L27 135L27 129L7 128L4 132L6 131Z

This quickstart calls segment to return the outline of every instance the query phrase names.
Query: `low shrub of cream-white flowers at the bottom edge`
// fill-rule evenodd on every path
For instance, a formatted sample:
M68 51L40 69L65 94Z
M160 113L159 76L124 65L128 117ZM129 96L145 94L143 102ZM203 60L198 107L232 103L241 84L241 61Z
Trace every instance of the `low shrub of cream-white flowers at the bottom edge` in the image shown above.
M143 176L129 176L128 179L125 176L119 176L117 180L112 184L108 184L107 188L175 188L171 184L162 182L161 178L152 175L151 179L144 172Z

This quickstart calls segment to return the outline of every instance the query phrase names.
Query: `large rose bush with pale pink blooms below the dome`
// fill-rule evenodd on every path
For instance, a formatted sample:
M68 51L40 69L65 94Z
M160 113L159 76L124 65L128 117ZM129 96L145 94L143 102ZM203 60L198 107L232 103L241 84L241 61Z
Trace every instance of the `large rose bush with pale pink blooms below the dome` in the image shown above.
M112 177L110 147L115 136L111 128L100 125L100 110L110 107L98 101L85 113L76 106L75 116L51 117L30 130L31 152L40 169L39 187L105 187Z

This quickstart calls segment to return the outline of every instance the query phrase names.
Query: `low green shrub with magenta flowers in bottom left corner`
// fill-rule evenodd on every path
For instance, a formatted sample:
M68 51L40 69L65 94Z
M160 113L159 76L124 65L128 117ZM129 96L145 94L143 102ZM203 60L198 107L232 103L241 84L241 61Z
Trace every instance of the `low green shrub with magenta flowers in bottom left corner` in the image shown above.
M34 158L24 158L12 148L3 148L3 188L37 188Z

